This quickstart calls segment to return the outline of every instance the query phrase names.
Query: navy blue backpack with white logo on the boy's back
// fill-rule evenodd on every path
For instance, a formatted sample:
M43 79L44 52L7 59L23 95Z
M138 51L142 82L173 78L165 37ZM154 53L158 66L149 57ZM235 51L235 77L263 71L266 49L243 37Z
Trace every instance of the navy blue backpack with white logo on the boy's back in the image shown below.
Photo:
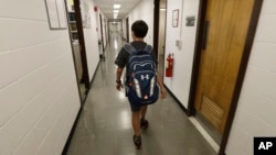
M136 49L131 44L125 44L129 53L126 80L129 102L151 104L158 100L157 67L151 54L152 47L146 45L144 49Z

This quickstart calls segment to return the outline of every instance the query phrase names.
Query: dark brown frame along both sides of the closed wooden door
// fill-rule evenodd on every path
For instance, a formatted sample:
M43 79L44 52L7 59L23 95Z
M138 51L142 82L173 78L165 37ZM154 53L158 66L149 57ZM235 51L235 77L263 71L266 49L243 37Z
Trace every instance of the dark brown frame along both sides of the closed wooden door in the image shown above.
M254 43L255 32L258 23L258 18L262 9L263 0L255 0L251 22L248 26L248 33L245 41L245 46L243 49L243 56L241 59L241 66L238 69L238 75L230 106L230 112L225 125L224 133L222 135L222 141L220 144L220 151L219 155L225 155L225 147L227 145L229 135L231 132L231 128L233 124L233 120L235 117L236 107L238 103L240 93L242 90L252 46ZM197 41L195 41L195 47L194 47L194 57L193 57L193 65L192 65L192 76L191 76L191 87L190 87L190 95L189 95L189 101L188 101L188 109L187 114L189 117L192 117L195 114L194 109L194 98L195 98L195 91L197 91L197 85L198 85L198 76L199 76L199 68L200 68L200 59L201 59L201 46L202 46L202 40L203 40L203 31L204 31L204 20L206 15L206 7L208 7L208 0L200 0L200 7L199 7L199 21L198 21L198 32L197 32Z

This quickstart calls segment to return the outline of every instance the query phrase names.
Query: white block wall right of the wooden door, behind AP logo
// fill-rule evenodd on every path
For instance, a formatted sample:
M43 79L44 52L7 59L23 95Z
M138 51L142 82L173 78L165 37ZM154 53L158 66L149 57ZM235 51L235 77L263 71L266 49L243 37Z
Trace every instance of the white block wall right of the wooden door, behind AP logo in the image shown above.
M253 155L254 136L276 133L276 1L265 0L226 154Z

